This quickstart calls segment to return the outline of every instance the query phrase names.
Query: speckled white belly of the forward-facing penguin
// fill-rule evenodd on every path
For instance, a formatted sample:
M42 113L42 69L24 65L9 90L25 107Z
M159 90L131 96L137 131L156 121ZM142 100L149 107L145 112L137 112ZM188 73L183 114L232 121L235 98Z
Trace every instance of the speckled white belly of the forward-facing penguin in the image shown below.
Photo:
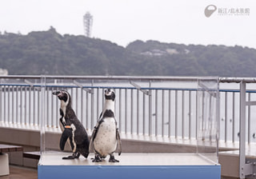
M94 149L106 157L113 153L117 147L116 122L114 117L106 117L98 126L98 132L94 138Z

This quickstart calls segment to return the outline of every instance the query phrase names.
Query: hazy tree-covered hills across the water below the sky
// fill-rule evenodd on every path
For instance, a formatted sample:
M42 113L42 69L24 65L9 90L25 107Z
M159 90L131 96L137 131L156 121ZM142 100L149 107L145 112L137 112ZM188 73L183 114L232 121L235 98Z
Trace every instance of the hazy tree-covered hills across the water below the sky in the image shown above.
M256 50L98 38L47 31L0 34L0 68L9 74L254 77Z

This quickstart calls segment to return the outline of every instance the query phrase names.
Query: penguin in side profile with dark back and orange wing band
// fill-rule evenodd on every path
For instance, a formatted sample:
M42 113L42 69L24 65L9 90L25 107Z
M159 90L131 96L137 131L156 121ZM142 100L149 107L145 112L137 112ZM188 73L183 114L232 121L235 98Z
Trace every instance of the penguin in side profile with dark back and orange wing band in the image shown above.
M59 144L60 149L64 150L66 141L69 139L73 152L71 156L62 157L62 159L78 158L80 154L87 158L90 145L89 137L86 133L86 129L74 113L74 109L72 109L70 93L66 90L59 90L54 91L53 94L57 95L58 99L61 101L61 107L59 109L61 114L59 122L62 129L62 137Z

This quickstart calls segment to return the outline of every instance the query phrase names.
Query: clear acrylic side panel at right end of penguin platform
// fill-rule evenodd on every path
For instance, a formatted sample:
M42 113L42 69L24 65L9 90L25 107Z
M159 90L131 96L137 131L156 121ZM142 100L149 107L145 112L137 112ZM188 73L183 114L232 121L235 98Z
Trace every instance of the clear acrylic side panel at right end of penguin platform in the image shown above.
M218 163L219 129L218 89L218 78L198 79L197 152L216 163Z

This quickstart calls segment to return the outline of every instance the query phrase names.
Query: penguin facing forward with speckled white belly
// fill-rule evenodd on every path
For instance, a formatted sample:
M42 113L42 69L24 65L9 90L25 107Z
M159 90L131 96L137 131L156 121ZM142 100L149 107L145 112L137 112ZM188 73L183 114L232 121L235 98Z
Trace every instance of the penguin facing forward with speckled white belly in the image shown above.
M94 162L102 161L110 155L110 162L119 162L114 158L114 151L118 146L118 155L121 154L121 140L114 113L114 90L105 90L105 105L98 119L97 125L90 138L90 149L94 150Z

